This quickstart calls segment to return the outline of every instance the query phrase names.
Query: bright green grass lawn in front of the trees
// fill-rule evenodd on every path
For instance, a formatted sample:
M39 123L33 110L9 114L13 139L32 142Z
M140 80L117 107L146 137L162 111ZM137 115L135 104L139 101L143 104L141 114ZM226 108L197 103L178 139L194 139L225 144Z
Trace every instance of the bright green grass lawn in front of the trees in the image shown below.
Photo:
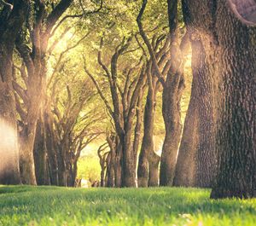
M195 188L0 186L0 225L256 225L256 200Z

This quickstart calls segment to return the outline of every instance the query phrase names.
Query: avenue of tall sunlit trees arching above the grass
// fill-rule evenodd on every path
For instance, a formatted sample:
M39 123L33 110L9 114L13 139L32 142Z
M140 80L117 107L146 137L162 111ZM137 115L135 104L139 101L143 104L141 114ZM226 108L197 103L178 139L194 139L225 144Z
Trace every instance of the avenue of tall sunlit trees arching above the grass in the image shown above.
M94 142L101 186L256 197L255 24L254 0L1 0L0 184L73 187Z

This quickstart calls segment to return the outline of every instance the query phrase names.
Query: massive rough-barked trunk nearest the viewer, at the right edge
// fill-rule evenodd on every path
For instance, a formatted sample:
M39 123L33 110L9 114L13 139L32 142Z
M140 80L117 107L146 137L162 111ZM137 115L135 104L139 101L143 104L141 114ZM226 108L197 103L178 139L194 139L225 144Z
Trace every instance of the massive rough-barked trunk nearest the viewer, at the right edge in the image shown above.
M256 28L219 1L218 175L212 198L256 197Z

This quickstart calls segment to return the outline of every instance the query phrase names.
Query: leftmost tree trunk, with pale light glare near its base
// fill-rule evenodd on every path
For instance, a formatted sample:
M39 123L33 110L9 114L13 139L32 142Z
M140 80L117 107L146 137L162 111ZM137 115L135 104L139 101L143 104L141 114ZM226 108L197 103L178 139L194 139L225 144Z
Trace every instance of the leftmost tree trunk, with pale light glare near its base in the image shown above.
M12 85L15 38L25 21L29 1L0 5L0 183L20 183L15 95Z

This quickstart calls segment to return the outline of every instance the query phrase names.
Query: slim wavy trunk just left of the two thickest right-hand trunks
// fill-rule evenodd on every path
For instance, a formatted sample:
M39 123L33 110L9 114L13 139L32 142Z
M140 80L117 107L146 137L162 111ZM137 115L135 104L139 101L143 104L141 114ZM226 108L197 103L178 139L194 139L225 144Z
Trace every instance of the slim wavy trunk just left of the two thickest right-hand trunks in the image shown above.
M182 134L180 101L184 89L183 56L177 29L177 1L167 1L171 35L171 67L168 71L162 96L162 112L166 137L160 159L160 185L172 186L177 149Z

